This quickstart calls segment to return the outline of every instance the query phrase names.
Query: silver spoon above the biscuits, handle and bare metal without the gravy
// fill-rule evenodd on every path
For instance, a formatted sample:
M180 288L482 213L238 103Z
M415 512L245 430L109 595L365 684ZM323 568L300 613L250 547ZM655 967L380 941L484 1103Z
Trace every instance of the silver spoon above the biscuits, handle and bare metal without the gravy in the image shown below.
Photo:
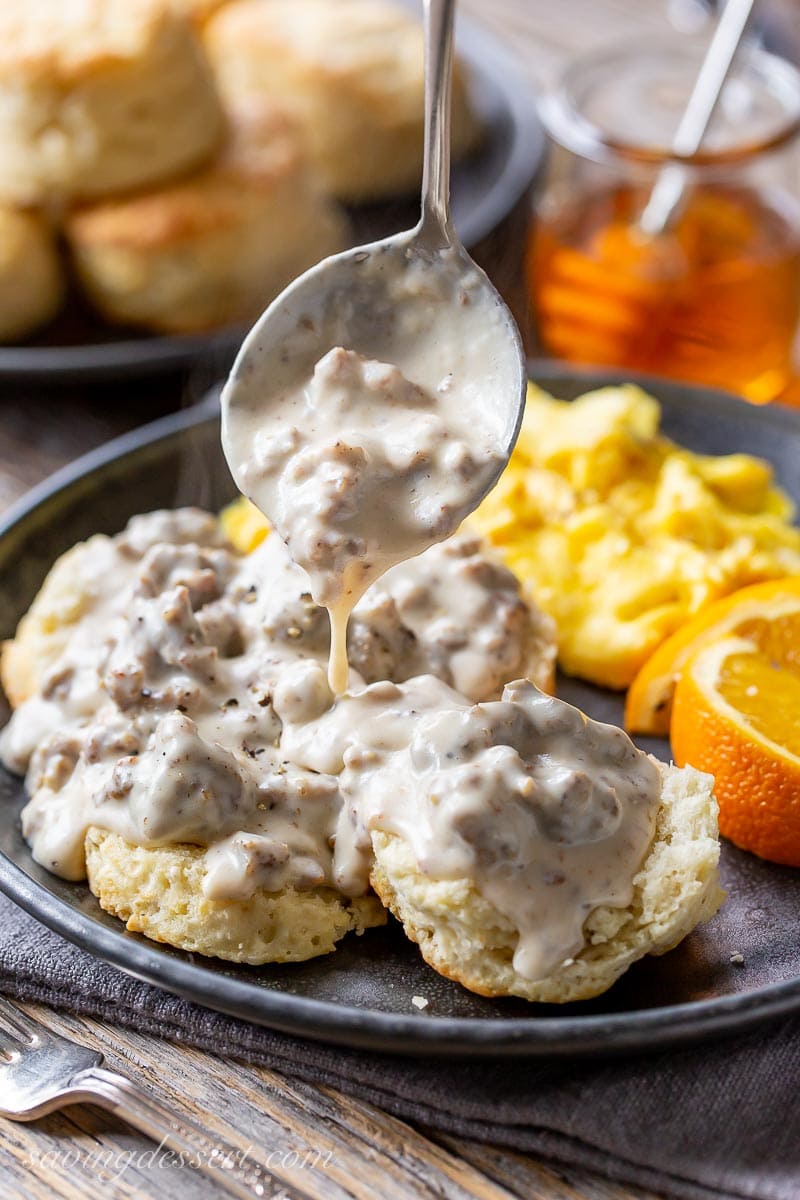
M438 323L450 326L462 361L487 409L504 449L497 472L476 485L473 508L494 486L511 455L525 403L527 366L509 308L458 240L450 217L450 91L456 0L425 0L425 158L422 214L416 228L326 258L266 308L245 338L222 392L222 439L228 454L234 434L258 407L264 412L314 364L337 346L368 359L390 361L414 379L415 346L435 338ZM396 319L397 280L414 278L403 290L403 331ZM470 337L458 337L469 304L482 306L497 325L487 353ZM408 306L413 306L413 311ZM408 319L407 319L408 318ZM463 324L463 322L462 322ZM415 336L416 331L416 336ZM241 420L241 425L237 422ZM230 462L230 455L228 455ZM269 514L267 514L269 516Z

